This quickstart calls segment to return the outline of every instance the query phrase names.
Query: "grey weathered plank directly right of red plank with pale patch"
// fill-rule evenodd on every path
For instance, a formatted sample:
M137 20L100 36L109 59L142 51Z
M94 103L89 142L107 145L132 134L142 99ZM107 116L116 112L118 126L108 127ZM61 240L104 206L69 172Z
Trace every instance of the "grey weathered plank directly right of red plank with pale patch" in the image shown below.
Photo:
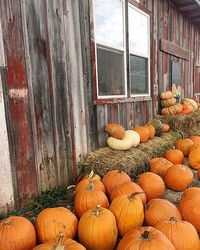
M23 25L27 59L27 75L31 99L35 154L40 191L57 185L56 153L52 118L52 97L49 87L47 10L44 1L23 3Z

